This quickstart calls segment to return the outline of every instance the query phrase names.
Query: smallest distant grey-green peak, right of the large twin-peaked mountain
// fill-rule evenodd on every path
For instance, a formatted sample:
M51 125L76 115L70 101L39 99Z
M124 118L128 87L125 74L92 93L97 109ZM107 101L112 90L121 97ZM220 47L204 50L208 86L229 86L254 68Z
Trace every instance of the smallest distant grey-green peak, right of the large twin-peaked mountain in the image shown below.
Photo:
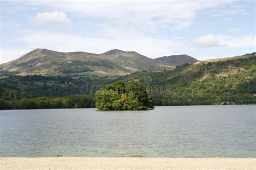
M187 55L173 55L156 58L158 62L163 62L170 65L183 65L185 63L193 64L198 62L196 58Z

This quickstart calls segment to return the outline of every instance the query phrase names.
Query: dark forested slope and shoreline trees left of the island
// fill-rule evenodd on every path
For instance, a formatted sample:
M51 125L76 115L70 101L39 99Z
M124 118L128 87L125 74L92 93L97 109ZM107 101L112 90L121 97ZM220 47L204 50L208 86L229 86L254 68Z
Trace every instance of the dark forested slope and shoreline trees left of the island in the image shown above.
M86 91L86 88L108 81L107 78L91 80L38 75L3 77L0 79L0 110L95 107L93 93L96 89Z

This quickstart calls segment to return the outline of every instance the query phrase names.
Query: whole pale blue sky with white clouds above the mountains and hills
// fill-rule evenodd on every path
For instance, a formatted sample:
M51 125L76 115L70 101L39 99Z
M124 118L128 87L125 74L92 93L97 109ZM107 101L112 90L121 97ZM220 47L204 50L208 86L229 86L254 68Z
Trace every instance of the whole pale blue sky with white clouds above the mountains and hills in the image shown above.
M0 63L37 48L199 60L256 51L254 0L0 3Z

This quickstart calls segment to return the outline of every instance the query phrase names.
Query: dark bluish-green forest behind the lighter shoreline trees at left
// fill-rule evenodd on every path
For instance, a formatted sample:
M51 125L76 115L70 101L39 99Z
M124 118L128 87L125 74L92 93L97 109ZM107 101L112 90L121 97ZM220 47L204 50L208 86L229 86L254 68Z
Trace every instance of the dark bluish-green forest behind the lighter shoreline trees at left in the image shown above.
M0 98L12 100L89 94L96 91L97 85L104 85L111 80L111 78L90 79L84 77L46 77L41 75L8 76L0 79ZM82 89L83 92L81 93L80 87L85 85L90 91Z

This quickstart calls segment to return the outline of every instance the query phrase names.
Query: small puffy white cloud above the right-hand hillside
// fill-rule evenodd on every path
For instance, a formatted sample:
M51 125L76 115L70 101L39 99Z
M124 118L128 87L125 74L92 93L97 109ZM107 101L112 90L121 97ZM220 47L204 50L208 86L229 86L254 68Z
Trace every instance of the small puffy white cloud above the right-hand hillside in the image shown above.
M198 37L194 40L194 46L198 48L207 47L220 47L224 46L219 43L219 40L214 35L208 34L202 37Z

